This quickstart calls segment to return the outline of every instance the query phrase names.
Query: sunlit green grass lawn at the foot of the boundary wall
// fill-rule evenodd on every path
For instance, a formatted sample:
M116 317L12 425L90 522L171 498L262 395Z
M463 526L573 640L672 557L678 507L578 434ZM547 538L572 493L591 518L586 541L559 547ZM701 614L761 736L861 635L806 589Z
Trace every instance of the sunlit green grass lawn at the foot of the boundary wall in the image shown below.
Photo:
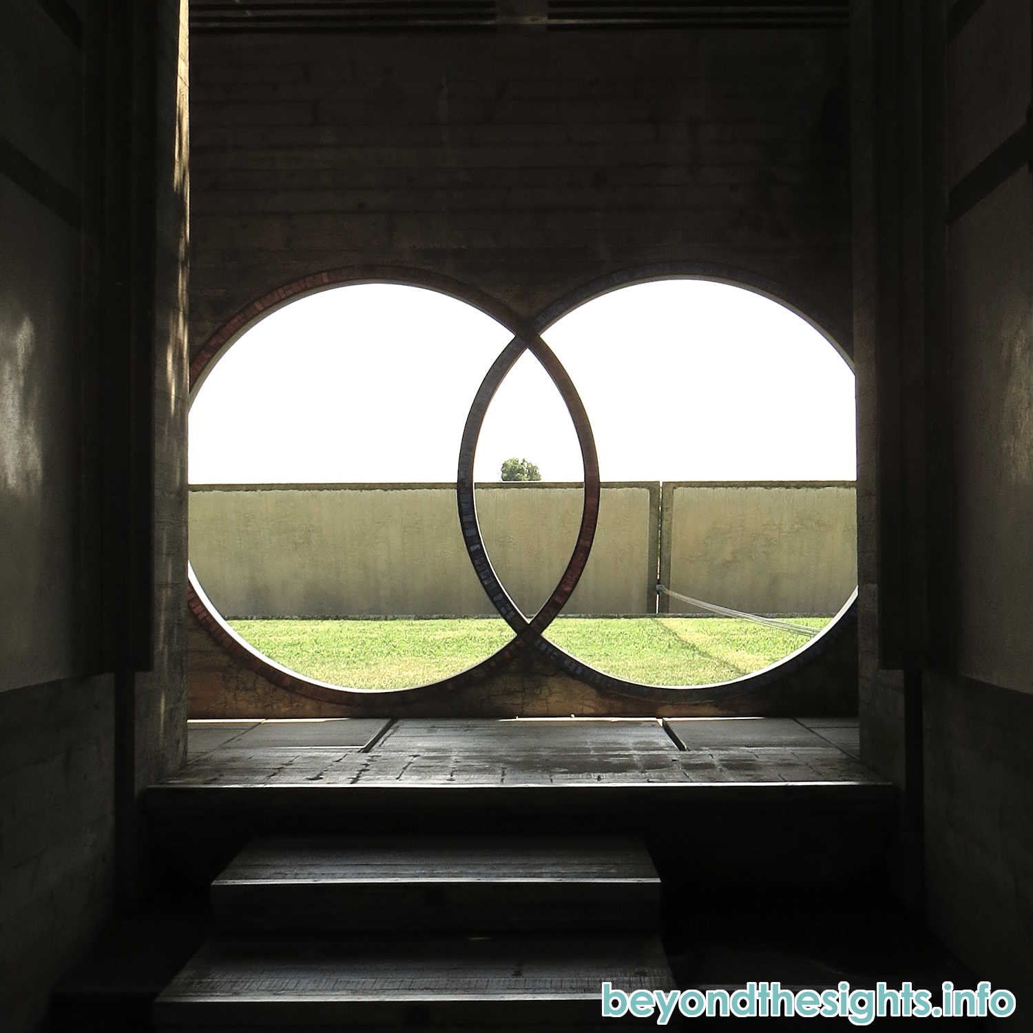
M822 627L825 617L793 618ZM335 685L396 689L473 666L512 637L494 618L230 621L258 652ZM706 685L766 667L803 635L724 617L559 618L546 637L606 674L653 685Z

